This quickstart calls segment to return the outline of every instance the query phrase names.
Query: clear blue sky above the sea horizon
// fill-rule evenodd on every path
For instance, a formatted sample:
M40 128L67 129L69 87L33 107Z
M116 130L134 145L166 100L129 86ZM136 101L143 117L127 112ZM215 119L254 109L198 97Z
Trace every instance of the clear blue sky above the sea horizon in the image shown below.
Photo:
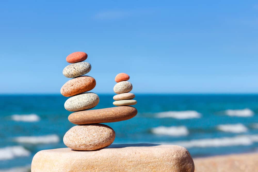
M95 93L258 93L255 1L1 1L0 93L60 93L88 54Z

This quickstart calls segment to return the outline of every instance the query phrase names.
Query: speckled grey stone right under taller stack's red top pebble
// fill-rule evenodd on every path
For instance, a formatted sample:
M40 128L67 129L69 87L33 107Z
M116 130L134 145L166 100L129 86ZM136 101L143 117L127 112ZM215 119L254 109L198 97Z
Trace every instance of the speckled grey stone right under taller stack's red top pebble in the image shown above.
M74 78L91 71L91 64L88 62L78 62L69 64L63 70L63 75L67 78Z

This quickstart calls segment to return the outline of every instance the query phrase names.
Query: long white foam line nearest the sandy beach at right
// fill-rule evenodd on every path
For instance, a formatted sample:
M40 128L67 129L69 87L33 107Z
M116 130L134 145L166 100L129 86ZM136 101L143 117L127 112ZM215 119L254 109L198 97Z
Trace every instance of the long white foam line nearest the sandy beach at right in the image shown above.
M258 135L239 135L235 137L222 137L222 138L208 138L208 139L196 139L190 141L178 141L178 142L162 142L158 144L175 144L186 148L192 147L223 147L223 146L248 146L258 142Z

